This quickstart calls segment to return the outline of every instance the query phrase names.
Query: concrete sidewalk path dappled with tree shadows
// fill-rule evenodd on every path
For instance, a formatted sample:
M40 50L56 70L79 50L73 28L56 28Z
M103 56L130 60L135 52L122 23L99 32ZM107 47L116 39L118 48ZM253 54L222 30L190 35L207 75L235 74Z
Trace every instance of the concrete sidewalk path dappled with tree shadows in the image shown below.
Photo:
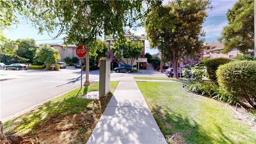
M119 82L87 143L167 143L133 77Z

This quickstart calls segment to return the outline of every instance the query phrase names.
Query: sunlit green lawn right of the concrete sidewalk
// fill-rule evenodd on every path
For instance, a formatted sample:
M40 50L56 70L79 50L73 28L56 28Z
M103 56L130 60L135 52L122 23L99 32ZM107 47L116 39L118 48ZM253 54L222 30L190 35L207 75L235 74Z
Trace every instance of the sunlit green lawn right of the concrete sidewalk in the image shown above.
M187 93L181 83L137 82L170 143L255 143L256 128L225 103Z

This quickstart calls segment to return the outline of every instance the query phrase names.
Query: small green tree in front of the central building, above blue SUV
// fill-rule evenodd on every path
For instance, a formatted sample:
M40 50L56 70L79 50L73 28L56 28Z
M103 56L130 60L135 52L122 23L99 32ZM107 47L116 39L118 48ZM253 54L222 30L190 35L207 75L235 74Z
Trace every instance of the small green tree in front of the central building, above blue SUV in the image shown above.
M134 60L138 59L143 51L143 44L142 42L132 42L130 39L120 39L119 41L116 41L113 46L111 46L111 50L114 52L115 57L118 58L119 61L122 61L125 65L128 65L128 61L130 60L130 65L133 65ZM126 62L123 60L123 58L126 59Z

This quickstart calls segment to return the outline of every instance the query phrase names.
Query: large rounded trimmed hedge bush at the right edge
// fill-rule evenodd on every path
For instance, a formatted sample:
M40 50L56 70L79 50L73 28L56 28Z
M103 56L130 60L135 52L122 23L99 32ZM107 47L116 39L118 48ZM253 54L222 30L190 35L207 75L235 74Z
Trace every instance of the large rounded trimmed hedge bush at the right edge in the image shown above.
M218 83L256 109L256 61L234 61L217 70Z

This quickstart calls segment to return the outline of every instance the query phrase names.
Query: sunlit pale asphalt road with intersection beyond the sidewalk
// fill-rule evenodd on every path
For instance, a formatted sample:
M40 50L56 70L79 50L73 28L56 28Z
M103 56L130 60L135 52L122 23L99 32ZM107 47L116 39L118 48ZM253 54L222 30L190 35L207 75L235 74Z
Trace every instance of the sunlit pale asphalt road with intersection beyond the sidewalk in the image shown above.
M0 119L38 105L81 84L80 69L67 67L60 71L0 70L1 76L17 77L0 82ZM111 80L122 81L123 76L164 76L155 71L140 74L111 73ZM120 78L119 78L120 77ZM120 80L118 80L120 79ZM99 71L90 71L90 81L99 80ZM83 83L85 72L83 71Z

